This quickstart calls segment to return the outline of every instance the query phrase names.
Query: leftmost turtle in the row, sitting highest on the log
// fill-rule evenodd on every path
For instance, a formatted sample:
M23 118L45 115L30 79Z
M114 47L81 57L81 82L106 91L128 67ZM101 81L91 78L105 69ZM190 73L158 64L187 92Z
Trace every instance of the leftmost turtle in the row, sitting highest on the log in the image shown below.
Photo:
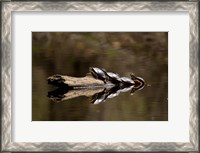
M104 83L107 82L107 75L106 75L106 71L105 69L100 69L100 68L97 68L97 67L90 67L89 68L89 71L90 73L92 74L92 76L95 78L95 79L100 79L102 80Z

